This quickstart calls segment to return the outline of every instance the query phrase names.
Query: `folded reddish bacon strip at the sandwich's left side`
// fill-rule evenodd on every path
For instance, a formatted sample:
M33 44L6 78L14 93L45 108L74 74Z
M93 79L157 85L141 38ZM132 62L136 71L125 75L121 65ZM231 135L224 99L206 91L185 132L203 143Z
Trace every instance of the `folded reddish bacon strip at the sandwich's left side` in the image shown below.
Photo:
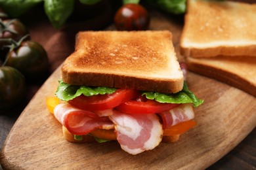
M54 116L74 135L86 135L95 129L114 128L108 117L99 117L93 112L77 109L68 103L57 105L54 108Z

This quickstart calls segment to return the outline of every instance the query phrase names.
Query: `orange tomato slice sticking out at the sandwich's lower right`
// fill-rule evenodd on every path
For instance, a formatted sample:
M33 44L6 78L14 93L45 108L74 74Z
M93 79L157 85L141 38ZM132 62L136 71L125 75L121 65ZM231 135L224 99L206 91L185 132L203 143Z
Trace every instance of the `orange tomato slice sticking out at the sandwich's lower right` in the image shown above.
M190 128L194 126L196 126L196 121L188 120L186 122L182 122L175 126L171 126L167 129L164 129L163 136L180 135L182 133L185 133L186 131L188 131Z

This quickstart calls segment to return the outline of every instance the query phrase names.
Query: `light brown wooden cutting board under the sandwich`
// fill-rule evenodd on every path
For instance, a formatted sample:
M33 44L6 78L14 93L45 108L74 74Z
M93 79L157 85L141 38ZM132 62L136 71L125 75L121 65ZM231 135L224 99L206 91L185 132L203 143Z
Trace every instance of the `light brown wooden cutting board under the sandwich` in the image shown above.
M110 27L112 29L112 27ZM179 55L181 25L154 14L150 29L173 32ZM0 160L4 169L205 169L232 150L256 126L256 99L211 78L188 73L188 86L204 99L194 109L194 127L176 143L132 156L115 141L75 144L62 137L62 126L46 107L53 96L60 67L49 77L22 112L7 137Z

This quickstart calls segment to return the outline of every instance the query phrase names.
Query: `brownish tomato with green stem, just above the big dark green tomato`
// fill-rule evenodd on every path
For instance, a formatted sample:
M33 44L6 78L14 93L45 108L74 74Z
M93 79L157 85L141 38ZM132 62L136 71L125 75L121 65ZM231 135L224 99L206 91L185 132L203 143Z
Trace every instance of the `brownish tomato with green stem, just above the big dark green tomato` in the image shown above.
M28 34L28 29L18 19L0 21L0 27L0 39L19 41Z

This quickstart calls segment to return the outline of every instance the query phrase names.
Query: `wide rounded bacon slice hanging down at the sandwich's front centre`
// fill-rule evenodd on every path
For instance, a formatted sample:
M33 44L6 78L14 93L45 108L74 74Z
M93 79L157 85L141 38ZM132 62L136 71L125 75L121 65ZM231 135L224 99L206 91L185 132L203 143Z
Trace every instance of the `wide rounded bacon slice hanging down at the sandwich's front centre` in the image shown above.
M117 141L129 154L152 150L160 144L163 129L156 114L126 114L114 110L110 116L117 131Z

